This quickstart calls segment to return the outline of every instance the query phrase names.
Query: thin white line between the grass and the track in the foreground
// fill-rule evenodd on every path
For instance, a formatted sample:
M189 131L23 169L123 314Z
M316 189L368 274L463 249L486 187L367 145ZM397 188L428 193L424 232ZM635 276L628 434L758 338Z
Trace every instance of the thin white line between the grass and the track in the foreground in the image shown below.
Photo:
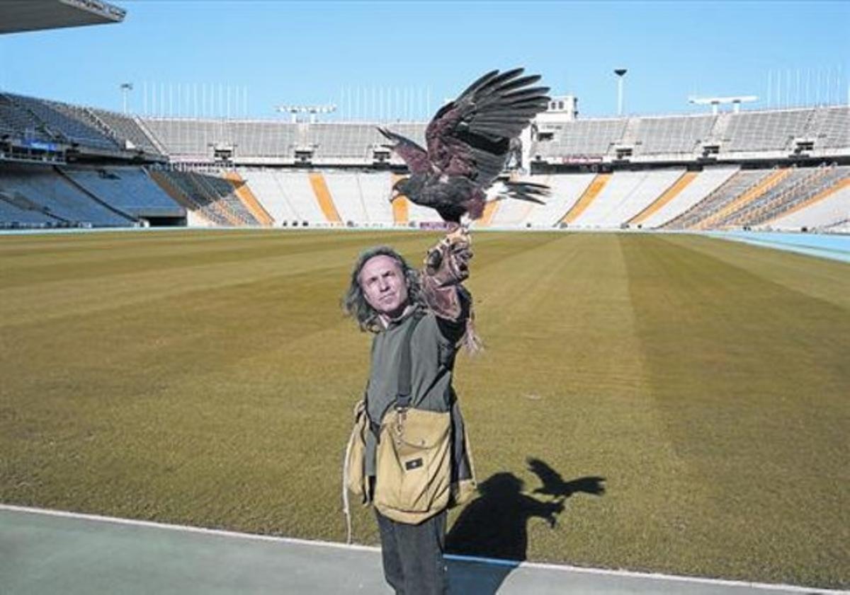
M381 551L380 547L363 546L359 544L347 544L339 542L324 542L320 540L297 539L295 537L278 537L267 535L256 535L253 533L239 533L236 531L221 530L221 529L205 529L203 527L193 527L190 525L169 525L167 523L156 523L150 520L136 519L121 519L118 517L108 517L99 514L82 514L73 513L65 510L50 510L48 508L31 508L25 506L14 506L12 504L0 503L0 511L7 510L9 512L29 513L29 514L44 514L48 516L60 517L65 519L80 519L98 521L103 523L112 523L116 525L131 525L137 527L149 527L151 529L166 529L178 530L188 533L200 533L203 535L213 535L222 537L234 537L236 539L247 539L261 542L278 542L288 543L300 546L318 546L331 547L337 549L357 550L362 552L377 553ZM519 562L515 560L481 558L478 556L462 556L458 554L447 554L446 559L457 560L459 562L472 562L478 564L491 564L496 566L508 566L511 568L527 568L530 570L556 570L563 572L576 572L588 575L608 575L608 576L627 576L632 578L641 578L652 581L684 581L703 583L707 585L723 585L728 587L749 587L752 589L784 589L787 592L807 593L830 593L850 595L850 591L836 591L830 589L819 589L815 587L798 587L796 585L785 585L780 583L765 583L751 581L731 581L728 579L713 579L700 576L683 576L683 575L666 575L663 573L635 572L632 570L609 570L604 568L589 568L585 566L570 566L569 564L543 564L540 562Z

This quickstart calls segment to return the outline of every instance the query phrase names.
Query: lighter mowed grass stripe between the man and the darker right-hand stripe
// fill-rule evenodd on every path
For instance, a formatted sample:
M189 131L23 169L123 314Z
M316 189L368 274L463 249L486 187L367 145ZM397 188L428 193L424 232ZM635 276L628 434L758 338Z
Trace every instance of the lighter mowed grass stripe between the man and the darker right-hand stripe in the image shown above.
M538 238L522 240L540 243L537 250L512 255L519 240L505 236L498 266L476 270L470 283L489 349L462 360L458 385L474 420L481 479L509 471L535 497L541 484L525 469L527 457L564 480L606 478L604 497L570 497L554 528L534 516L541 507L533 501L510 511L532 515L528 555L657 568L670 493L685 489L688 476L646 390L620 246L613 235ZM479 525L498 524L508 512L492 508L479 513ZM476 545L484 553L511 549Z

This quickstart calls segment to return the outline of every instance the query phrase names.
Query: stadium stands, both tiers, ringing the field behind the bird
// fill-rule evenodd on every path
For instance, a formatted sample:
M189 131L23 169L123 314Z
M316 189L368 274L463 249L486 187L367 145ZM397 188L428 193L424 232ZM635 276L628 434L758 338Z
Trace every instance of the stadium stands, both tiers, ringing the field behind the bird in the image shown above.
M561 117L563 116L563 117ZM417 227L378 122L166 118L0 93L0 226ZM422 143L426 123L381 123ZM478 227L850 229L850 107L581 119L558 109Z

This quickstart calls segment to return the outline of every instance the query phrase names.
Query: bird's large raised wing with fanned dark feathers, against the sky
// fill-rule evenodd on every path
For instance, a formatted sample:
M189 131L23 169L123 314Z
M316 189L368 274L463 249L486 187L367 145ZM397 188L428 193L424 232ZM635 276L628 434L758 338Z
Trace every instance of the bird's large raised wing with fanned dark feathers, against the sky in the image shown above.
M540 76L523 72L491 70L439 109L425 131L436 169L484 187L501 173L511 139L549 103L548 87L530 87Z

